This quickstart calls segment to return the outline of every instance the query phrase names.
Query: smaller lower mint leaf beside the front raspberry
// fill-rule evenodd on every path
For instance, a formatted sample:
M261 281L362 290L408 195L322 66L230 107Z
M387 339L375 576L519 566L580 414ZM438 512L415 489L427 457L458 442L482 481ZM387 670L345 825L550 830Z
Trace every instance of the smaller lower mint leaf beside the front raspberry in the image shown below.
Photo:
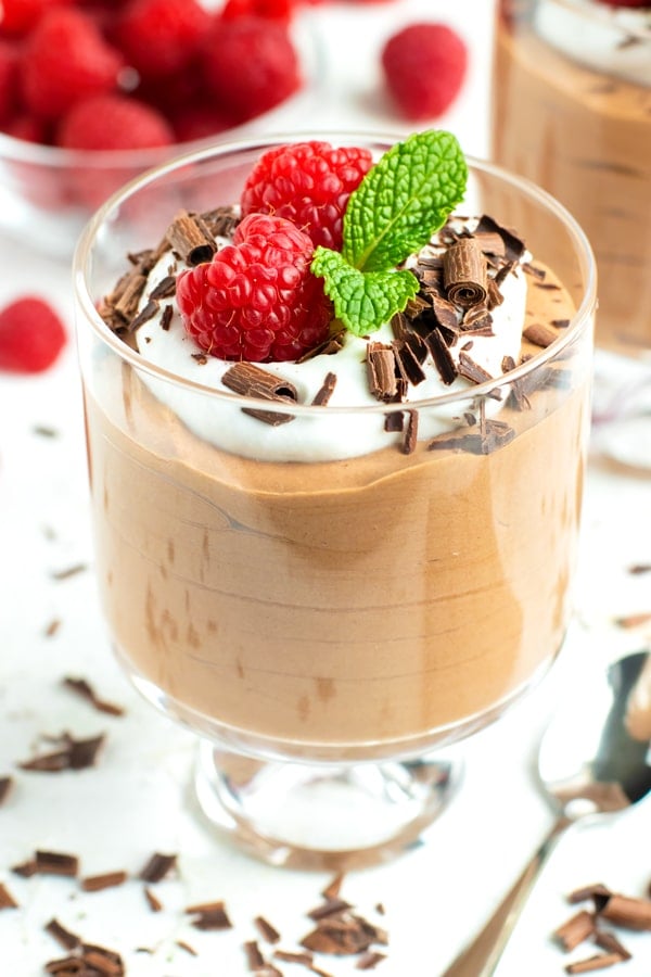
M374 332L403 312L419 289L411 271L359 271L329 248L317 248L311 272L324 279L323 291L332 299L337 319L356 335Z

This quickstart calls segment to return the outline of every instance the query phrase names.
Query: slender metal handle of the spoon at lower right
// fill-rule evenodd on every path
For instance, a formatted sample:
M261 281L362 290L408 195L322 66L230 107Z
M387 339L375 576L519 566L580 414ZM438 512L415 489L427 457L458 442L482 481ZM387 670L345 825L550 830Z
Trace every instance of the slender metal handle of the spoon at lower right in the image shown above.
M571 824L564 816L553 823L505 900L443 977L493 977L544 865Z

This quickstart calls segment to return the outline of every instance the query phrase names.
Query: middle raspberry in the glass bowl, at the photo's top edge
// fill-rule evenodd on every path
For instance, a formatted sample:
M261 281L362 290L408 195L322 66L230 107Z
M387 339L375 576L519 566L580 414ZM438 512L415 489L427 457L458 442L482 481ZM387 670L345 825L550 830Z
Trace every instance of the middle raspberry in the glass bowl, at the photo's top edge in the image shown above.
M212 24L196 0L132 0L119 17L115 39L140 75L156 78L186 67Z

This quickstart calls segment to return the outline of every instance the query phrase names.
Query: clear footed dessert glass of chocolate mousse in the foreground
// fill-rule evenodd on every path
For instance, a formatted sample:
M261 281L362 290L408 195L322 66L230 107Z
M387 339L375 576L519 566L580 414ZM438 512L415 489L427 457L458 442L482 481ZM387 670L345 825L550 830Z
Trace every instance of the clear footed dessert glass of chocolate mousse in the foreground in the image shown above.
M575 309L508 379L348 408L218 392L148 364L97 312L127 252L159 241L181 207L237 201L259 155L297 138L310 137L187 155L112 198L75 255L78 342L118 658L202 738L196 796L214 824L276 864L350 866L418 837L455 779L433 749L499 716L563 643L596 279L556 201L475 162L462 207L524 228ZM378 156L393 141L318 138ZM278 423L244 443L242 410ZM224 446L193 433L200 417ZM438 434L408 451L417 418ZM303 460L316 443L329 460Z

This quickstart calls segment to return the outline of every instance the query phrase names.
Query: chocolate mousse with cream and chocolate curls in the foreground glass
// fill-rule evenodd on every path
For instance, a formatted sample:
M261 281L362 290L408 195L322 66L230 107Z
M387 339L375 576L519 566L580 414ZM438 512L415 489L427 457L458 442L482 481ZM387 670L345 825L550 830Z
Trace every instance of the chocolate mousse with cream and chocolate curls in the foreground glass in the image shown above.
M283 756L409 753L497 715L558 652L589 415L580 286L493 217L459 221L414 255L404 312L370 335L333 323L294 363L216 361L182 335L169 238L107 296L129 345L85 384L103 605L135 680L194 728ZM490 372L482 343L519 302ZM175 330L190 408L139 368L169 371ZM261 408L239 399L250 381Z

